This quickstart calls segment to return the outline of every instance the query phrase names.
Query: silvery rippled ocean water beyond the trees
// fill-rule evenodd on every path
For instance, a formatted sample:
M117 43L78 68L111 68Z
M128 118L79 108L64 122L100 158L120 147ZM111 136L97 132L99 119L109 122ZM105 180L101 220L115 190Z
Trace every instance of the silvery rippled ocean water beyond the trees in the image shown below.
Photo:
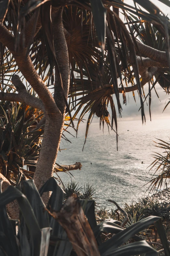
M74 177L67 173L59 173L62 181L73 179L81 186L84 186L84 183L92 184L96 190L97 202L102 207L113 207L106 199L115 200L123 205L137 197L147 196L146 184L154 173L149 172L147 167L154 160L153 152L163 151L155 147L153 141L156 141L156 138L168 140L170 119L155 119L152 122L147 120L145 125L142 125L141 120L118 121L118 151L115 132L110 130L109 134L105 125L103 133L103 129L99 129L99 121L96 120L90 126L82 152L85 129L86 124L81 123L77 138L64 133L71 144L62 140L60 147L67 149L58 153L57 162L81 162L82 169L71 171ZM76 135L73 129L69 131Z

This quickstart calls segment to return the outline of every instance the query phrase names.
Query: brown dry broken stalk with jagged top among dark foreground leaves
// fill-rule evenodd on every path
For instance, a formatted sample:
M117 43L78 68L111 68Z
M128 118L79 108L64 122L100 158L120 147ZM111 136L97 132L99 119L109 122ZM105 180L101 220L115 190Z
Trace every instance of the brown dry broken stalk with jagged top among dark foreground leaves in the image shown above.
M76 194L67 199L60 212L50 214L65 229L78 256L100 256L94 233Z

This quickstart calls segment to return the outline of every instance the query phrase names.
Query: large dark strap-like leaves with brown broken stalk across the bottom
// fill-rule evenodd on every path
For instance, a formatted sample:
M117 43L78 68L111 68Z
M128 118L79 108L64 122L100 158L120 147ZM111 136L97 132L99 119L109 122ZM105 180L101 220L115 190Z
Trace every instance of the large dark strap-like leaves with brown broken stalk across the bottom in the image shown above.
M0 181L0 185L2 186L2 181ZM52 194L47 209L45 209L41 196L47 191L52 191ZM77 252L78 256L87 254L130 256L142 253L156 256L156 250L136 235L153 223L162 240L165 254L170 255L160 217L149 216L126 229L120 226L119 221L113 219L107 219L97 225L94 200L80 200L76 194L73 194L63 205L64 197L63 189L54 178L50 178L41 187L39 193L33 180L23 181L18 187L9 186L3 193L1 190L0 255L73 256ZM17 199L20 207L20 220L11 220L7 216L5 205L14 199ZM64 227L66 227L65 224L68 225L68 229L65 228L67 234L60 224ZM81 232L82 229L79 230L79 228L83 228L84 232ZM115 235L102 243L100 236L102 232ZM77 240L74 240L75 237ZM135 242L127 244L131 238Z

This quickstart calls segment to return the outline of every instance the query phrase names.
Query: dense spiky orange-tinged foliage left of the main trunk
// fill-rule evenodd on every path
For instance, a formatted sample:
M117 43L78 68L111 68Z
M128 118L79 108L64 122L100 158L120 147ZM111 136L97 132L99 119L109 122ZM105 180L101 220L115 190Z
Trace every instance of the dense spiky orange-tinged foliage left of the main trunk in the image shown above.
M0 103L1 173L13 185L17 185L21 177L33 178L31 167L36 166L44 132L43 127L35 128L42 116L41 111L22 103Z

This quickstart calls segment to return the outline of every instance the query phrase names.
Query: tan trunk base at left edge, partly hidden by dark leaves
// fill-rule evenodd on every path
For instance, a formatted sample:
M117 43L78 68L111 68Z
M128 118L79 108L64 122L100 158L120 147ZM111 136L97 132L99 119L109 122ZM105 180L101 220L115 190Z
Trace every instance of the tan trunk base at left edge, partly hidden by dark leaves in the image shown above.
M0 173L0 179L3 180L2 192L4 192L4 190L6 190L7 187L10 185L10 182L1 173ZM6 207L7 207L7 213L10 218L19 219L19 206L16 200L7 204Z

